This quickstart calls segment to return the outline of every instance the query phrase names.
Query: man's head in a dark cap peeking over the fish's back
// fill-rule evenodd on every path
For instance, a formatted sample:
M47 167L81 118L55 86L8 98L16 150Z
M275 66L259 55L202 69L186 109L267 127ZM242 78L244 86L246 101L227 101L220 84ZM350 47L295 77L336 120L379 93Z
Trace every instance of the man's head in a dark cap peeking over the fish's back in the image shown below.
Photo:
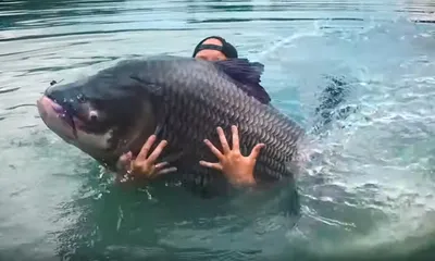
M217 61L238 58L236 48L219 36L209 36L202 39L194 50L194 58Z

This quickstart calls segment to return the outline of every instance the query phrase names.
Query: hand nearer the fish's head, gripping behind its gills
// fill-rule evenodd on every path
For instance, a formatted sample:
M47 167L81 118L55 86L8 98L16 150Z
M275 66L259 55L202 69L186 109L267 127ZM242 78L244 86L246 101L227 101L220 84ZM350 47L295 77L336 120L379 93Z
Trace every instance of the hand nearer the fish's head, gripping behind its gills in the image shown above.
M125 182L127 178L132 177L152 179L158 175L176 171L176 167L167 167L167 162L160 162L156 164L156 161L163 151L163 148L167 145L166 140L160 141L152 153L147 158L151 146L156 141L156 135L151 135L147 139L136 159L133 159L130 151L120 157L116 166L119 173L124 177L121 182Z

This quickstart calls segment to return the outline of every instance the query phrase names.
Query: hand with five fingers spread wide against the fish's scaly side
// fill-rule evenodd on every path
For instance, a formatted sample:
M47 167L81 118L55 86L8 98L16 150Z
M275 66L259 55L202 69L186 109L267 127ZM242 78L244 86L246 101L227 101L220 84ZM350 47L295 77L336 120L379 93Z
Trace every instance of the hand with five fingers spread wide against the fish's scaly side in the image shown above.
M233 149L229 149L225 134L221 127L217 127L217 135L222 144L223 153L214 147L210 140L206 139L206 145L219 159L219 162L212 163L207 161L200 161L202 166L219 170L224 173L226 178L233 185L254 185L256 179L253 178L253 169L256 166L257 158L260 154L260 150L265 146L264 144L258 144L253 147L251 153L245 157L240 152L238 130L236 126L232 126L233 133Z

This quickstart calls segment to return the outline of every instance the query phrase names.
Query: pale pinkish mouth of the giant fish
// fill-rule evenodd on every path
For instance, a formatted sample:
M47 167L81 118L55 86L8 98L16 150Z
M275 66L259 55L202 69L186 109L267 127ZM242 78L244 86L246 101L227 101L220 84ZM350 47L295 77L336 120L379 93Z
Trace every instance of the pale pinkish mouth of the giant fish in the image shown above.
M39 115L44 123L58 135L67 139L77 139L77 127L74 115L67 108L53 101L48 96L37 100Z

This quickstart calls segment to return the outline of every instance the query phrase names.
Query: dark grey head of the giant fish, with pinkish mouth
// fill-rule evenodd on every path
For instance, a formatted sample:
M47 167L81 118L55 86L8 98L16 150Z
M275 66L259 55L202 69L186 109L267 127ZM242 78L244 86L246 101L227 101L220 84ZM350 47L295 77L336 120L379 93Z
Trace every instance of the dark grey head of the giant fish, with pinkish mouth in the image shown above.
M122 75L51 86L37 108L49 129L109 169L140 150L157 126L149 97Z

